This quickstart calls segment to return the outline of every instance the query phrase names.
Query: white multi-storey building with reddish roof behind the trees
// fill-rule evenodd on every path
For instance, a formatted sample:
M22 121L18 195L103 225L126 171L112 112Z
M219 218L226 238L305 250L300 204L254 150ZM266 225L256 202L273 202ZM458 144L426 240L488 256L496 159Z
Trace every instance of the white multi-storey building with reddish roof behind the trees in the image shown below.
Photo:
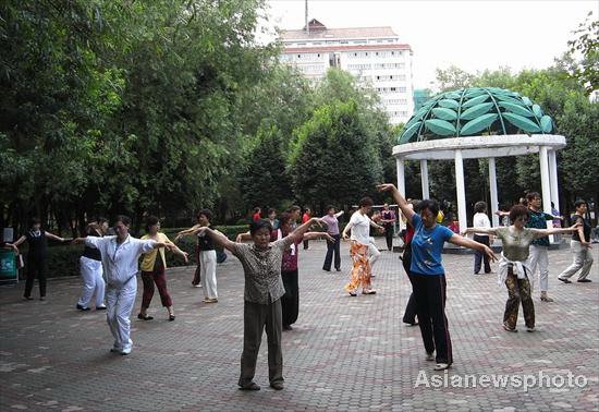
M314 19L307 28L282 32L282 62L311 80L329 68L346 70L379 93L391 123L407 122L414 112L413 52L391 27L327 28Z

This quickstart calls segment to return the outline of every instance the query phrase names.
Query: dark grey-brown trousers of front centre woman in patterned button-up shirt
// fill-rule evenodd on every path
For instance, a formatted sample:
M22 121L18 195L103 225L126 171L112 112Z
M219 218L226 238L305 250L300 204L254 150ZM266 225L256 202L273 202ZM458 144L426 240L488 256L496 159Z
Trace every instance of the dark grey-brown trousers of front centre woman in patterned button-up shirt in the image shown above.
M268 340L268 378L271 384L284 380L281 348L281 334L283 330L281 300L267 305L245 301L243 306L242 371L239 381L242 387L254 380L256 360L260 351L265 326Z

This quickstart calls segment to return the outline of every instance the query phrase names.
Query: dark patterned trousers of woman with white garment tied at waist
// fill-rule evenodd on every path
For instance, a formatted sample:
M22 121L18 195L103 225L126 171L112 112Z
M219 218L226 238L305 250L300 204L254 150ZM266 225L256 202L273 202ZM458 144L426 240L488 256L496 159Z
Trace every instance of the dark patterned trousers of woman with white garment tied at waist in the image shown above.
M505 302L505 313L503 314L503 324L510 329L516 328L518 319L518 307L522 302L524 312L524 323L527 327L535 327L535 304L530 296L530 282L528 279L518 279L512 268L508 269L505 279L508 287L508 302Z

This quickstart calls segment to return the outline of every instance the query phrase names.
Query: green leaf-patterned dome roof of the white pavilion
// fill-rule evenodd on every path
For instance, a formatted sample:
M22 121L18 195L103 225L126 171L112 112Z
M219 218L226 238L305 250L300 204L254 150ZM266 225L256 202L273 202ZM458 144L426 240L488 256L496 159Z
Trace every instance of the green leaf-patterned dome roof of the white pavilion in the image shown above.
M499 87L441 93L414 113L399 144L475 135L548 134L553 122L528 97Z

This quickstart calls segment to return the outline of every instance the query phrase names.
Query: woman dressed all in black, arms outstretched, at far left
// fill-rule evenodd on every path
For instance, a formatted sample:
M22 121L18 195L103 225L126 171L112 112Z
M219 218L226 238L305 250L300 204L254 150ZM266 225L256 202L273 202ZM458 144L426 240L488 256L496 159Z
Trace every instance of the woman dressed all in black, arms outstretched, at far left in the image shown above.
M27 245L29 246L25 264L27 268L27 280L25 282L24 294L24 298L28 301L33 299L32 289L36 276L39 279L39 300L42 301L46 298L46 249L48 239L65 242L65 239L42 230L39 219L33 218L30 230L19 238L13 244L9 244L9 246L14 247L17 253L21 243L27 241Z

